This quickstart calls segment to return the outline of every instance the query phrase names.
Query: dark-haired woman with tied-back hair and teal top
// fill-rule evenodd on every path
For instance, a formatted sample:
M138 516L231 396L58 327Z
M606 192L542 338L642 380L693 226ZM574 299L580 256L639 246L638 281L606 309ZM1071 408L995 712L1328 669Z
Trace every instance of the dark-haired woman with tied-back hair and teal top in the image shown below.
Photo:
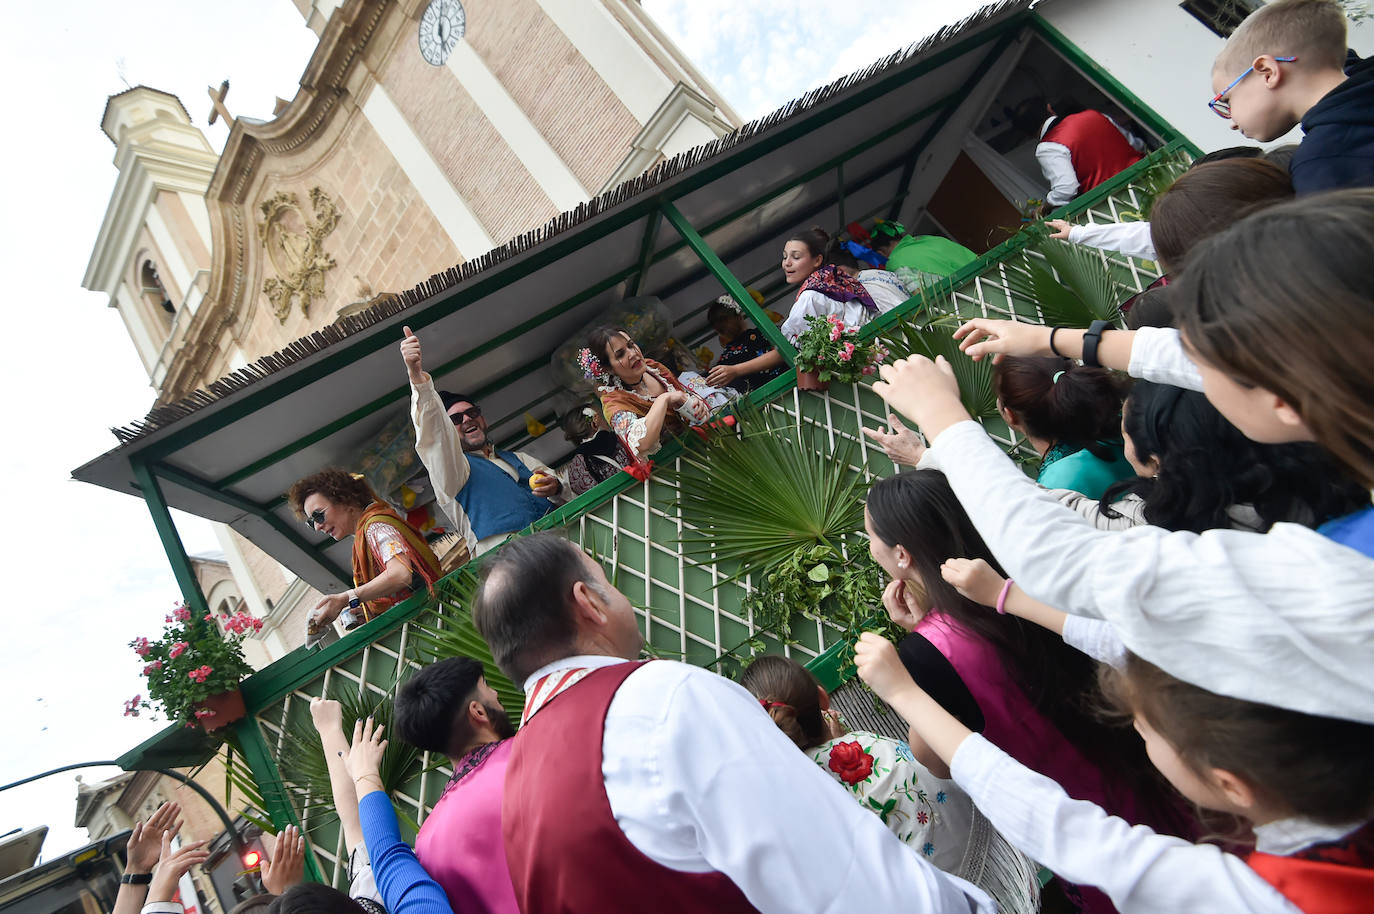
M1121 451L1121 385L1068 359L1003 359L992 374L1003 421L1040 455L1036 482L1102 498L1134 474Z

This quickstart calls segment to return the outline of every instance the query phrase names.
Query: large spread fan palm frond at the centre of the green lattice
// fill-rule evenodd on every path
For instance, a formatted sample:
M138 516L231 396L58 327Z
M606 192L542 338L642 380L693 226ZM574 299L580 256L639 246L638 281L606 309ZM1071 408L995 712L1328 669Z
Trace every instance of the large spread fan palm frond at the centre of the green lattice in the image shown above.
M739 425L743 434L694 441L679 467L664 471L677 485L684 554L735 564L739 570L725 580L736 580L800 546L838 546L863 526L866 482L852 469L853 441L831 452L815 426L750 405L741 408Z

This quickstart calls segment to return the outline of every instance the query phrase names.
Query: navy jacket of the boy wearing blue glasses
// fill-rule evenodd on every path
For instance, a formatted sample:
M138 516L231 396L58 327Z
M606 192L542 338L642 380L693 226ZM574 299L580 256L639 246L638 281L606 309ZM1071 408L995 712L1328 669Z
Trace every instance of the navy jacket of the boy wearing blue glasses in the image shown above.
M1374 58L1352 62L1347 74L1303 117L1289 164L1298 194L1374 187Z

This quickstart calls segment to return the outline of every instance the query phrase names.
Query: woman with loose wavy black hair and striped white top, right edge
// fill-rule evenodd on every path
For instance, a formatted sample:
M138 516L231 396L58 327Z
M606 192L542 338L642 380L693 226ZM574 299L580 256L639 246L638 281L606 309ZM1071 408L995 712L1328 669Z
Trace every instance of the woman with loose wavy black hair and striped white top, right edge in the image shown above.
M1054 492L1098 529L1263 533L1282 521L1316 526L1369 500L1315 444L1252 441L1195 390L1138 381L1121 411L1121 437L1135 478L1113 484L1101 500Z

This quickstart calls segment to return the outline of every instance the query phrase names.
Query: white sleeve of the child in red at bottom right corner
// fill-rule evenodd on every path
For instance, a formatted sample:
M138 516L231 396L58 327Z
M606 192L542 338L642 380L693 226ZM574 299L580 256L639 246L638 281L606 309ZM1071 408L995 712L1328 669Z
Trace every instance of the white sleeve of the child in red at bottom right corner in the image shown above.
M1241 858L1073 800L978 734L959 745L949 768L1009 843L1069 882L1101 888L1121 914L1297 911Z

